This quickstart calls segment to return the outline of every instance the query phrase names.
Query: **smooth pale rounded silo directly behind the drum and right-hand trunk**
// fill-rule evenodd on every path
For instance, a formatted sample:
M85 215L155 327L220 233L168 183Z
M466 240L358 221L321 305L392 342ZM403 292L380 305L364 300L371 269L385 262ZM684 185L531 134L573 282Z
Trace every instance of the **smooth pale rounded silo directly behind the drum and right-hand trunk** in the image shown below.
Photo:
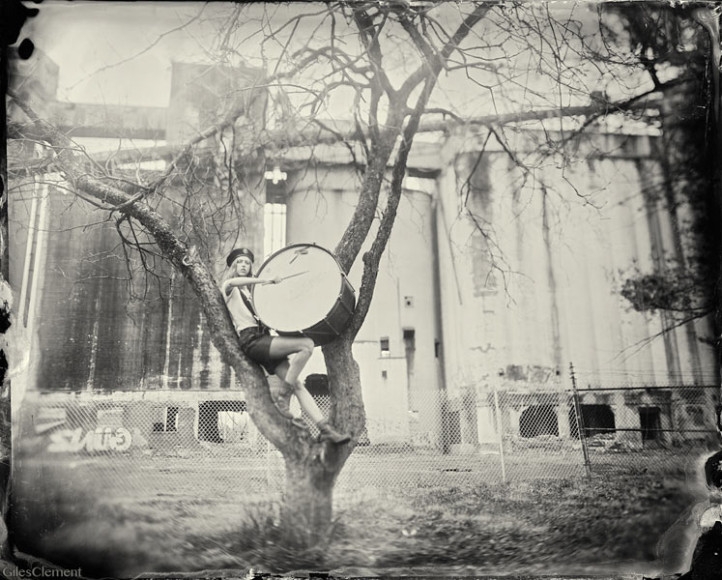
M404 185L396 227L382 258L371 309L354 353L362 370L371 442L411 437L423 444L437 444L443 403L434 279L435 184L433 180L407 178ZM320 167L291 175L288 189L287 242L312 242L333 250L358 199L355 176L346 167ZM349 273L349 281L357 290L362 273L358 262ZM411 332L413 348L408 338ZM381 352L382 338L389 340L386 353ZM319 350L306 372L324 372Z

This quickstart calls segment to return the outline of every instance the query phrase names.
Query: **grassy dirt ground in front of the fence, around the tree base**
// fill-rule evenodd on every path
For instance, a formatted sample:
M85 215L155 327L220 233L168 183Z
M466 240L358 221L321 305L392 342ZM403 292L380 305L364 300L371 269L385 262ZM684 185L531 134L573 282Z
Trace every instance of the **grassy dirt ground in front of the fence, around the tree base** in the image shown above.
M11 529L22 552L91 577L653 573L658 541L693 501L689 459L618 463L598 461L588 479L577 458L517 456L503 483L498 456L359 450L328 542L298 553L268 529L283 486L274 453L35 457L16 461Z

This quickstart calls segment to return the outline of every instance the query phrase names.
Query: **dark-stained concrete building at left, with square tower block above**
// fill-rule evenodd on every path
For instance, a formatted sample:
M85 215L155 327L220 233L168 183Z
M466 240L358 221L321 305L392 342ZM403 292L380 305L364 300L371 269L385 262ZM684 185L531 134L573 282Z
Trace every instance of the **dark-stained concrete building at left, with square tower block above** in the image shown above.
M33 62L45 61L34 58ZM171 143L195 136L218 115L241 103L248 109L243 122L262 123L265 93L234 90L253 84L258 71L232 73L222 67L174 65L166 117ZM41 75L45 81L49 79L49 87L30 86L33 94L52 101L56 77L57 71L55 77ZM218 90L210 90L212 85ZM49 109L51 119L52 114ZM52 120L62 122L62 118ZM113 128L112 123L106 127ZM122 136L122 127L115 128L117 136ZM117 139L108 144L111 149L117 146ZM17 153L33 155L31 150ZM197 300L185 282L151 255L145 256L148 274L137 253L129 252L127 263L106 212L69 195L63 187L48 185L52 180L53 176L46 175L44 183L29 179L11 184L10 283L17 302L23 304L18 327L29 343L29 372L23 377L27 388L78 392L237 387L210 343ZM191 200L200 199L209 207L227 202L227 188L200 185L201 191ZM184 195L182 185L180 191L171 190L170 197L174 193L179 202ZM242 186L236 185L235 195L241 213L222 211L227 219L219 232L206 232L205 240L191 235L189 240L212 264L219 281L232 246L260 249L263 243L263 180L256 175ZM159 207L179 232L188 230L187 224L181 223L180 206ZM193 203L186 208L187 214L197 211ZM139 235L143 241L143 234Z

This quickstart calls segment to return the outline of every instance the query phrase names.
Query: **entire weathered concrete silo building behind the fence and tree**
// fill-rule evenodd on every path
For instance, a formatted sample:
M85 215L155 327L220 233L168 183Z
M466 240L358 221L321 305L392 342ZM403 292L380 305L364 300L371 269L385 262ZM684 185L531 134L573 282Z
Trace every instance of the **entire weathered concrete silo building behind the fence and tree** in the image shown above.
M175 66L156 138L182 143L239 106L218 100L229 94L229 76L206 69ZM224 90L211 91L214 83ZM243 94L246 118L257 122L264 97ZM67 109L47 107L46 114L60 123ZM163 116L142 118L153 124ZM417 144L354 344L369 443L474 452L498 439L497 416L505 433L519 437L578 436L565 394L570 364L583 415L586 409L589 422L620 429L619 437L636 437L623 428L655 412L665 427L698 421L700 413L713 423L712 399L700 405L624 390L717 380L713 348L700 340L710 335L709 321L662 333L663 314L634 311L619 292L625 273L657 268L678 247L680 210L648 194L660 175L654 138L596 134L540 155L544 135L535 131L502 146L467 128ZM357 199L351 161L344 148L323 146L246 165L235 193L243 219L234 214L222 235L200 244L217 279L238 243L263 256L295 243L332 250ZM160 260L150 263L150 275L131 279L116 224L65 192L59 177L56 185L45 177L17 179L10 207L10 282L30 353L19 380L25 400L46 409L47 425L71 432L79 425L126 429L133 441L162 446L231 440L237 427L257 442L242 379L220 361L190 289ZM176 185L179 201L184 185ZM221 203L224 183L208 179L199 191ZM352 286L360 276L357 265L348 273ZM312 392L323 396L320 352L307 371ZM619 390L590 390L612 383ZM622 419L629 416L639 420ZM33 425L28 440L36 441L47 431Z

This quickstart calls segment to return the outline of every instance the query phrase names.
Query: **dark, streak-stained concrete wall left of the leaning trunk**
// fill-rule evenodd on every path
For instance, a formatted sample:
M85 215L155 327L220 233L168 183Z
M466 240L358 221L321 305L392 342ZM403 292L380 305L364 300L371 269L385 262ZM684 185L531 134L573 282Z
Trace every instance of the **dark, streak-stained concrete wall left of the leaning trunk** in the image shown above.
M53 187L26 191L28 199L38 201L11 203L17 219L11 284L18 302L26 304L21 323L35 342L32 388L235 386L210 343L197 299L167 264L157 261L146 274L138 256L131 255L131 278L105 214ZM215 253L225 256L226 250ZM219 280L223 267L217 269Z

